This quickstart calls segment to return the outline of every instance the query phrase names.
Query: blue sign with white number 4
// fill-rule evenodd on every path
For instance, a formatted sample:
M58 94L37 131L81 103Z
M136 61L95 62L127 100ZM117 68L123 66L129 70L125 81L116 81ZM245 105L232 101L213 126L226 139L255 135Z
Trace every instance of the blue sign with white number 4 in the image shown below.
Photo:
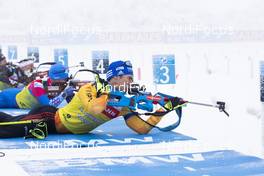
M106 74L109 66L109 51L92 51L93 71Z

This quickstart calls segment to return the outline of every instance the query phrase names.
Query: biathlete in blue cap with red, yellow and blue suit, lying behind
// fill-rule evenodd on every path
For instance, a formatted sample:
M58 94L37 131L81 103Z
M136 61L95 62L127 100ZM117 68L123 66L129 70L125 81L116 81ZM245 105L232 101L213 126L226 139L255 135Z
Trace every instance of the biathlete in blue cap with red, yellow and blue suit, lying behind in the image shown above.
M42 105L57 107L66 96L73 95L73 88L66 88L59 96L49 99L47 87L57 81L67 81L67 69L61 64L51 66L48 78L34 80L29 85L20 88L8 88L0 92L0 108L33 109ZM1 117L0 117L1 118Z

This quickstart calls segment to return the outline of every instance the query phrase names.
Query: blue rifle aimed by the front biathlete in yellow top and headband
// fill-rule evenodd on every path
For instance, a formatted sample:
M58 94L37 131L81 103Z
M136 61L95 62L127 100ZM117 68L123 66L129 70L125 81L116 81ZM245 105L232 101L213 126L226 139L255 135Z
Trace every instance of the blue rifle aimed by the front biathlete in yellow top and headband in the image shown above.
M177 103L173 103L175 102L175 100ZM186 101L178 97L173 97L170 95L162 94L160 92L152 96L151 94L142 93L142 92L137 91L137 92L134 92L134 95L132 97L128 97L128 95L124 92L114 91L114 92L110 92L110 101L108 102L109 106L128 107L131 110L131 113L126 115L127 117L136 116L140 120L144 121L145 123L152 126L153 128L159 129L160 131L171 131L177 128L181 123L182 107L186 106L187 104L214 107L214 108L219 109L220 112L224 112L227 116L229 116L229 114L225 110L225 102L218 101L216 105L211 105L211 104L205 104L205 103ZM153 112L154 105L160 105L165 110ZM136 112L139 110L144 110L147 112L143 112L143 113ZM140 117L142 115L145 115L145 116L153 115L153 116L158 116L162 119L166 119L167 114L172 111L176 112L176 115L178 118L176 118L174 115L173 119L168 118L167 120L165 120L165 123L163 123L162 126L159 126L159 123L161 122L159 122L157 125L153 125L147 122L142 117Z

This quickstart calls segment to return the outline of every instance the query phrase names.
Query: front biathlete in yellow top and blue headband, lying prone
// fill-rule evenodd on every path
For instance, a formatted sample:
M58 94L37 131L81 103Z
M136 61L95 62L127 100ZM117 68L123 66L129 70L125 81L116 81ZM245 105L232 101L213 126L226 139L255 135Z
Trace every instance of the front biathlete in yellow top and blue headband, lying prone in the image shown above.
M123 61L111 63L107 72L107 81L112 87L121 87L121 85L124 84L129 85L133 81L132 65ZM34 110L34 112L30 112L22 117L11 117L1 113L0 117L5 116L5 121L9 121L8 119L28 120L37 117L44 118L43 112L53 113L53 115L49 114L49 120L47 122L49 133L89 133L101 124L120 116L124 117L129 128L139 134L146 134L152 129L152 126L142 121L137 116L126 116L131 112L127 107L107 106L108 93L101 92L101 95L97 97L97 87L98 84L87 83L75 93L69 104L59 109L53 108L45 112L43 109L47 107L40 107L40 109ZM161 117L150 116L147 122L156 125L159 123L160 119ZM21 127L19 136L25 135L25 132L22 130L24 129L23 127L24 126ZM16 131L18 131L18 128L16 129ZM0 137L7 137L6 134L7 133L5 133L5 135L1 134L0 130ZM12 135L14 136L14 132L9 133L9 136Z

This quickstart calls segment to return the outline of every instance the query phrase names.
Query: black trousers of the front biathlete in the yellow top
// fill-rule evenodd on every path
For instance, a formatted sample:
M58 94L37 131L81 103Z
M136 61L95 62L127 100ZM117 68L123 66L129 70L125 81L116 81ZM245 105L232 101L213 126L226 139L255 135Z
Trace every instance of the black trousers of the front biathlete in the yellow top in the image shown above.
M34 128L36 124L11 124L1 125L1 122L15 122L25 120L43 120L47 123L48 133L57 133L55 127L55 113L57 108L53 106L40 106L32 109L28 114L12 116L10 114L0 112L0 138L24 137L28 133L28 129Z

